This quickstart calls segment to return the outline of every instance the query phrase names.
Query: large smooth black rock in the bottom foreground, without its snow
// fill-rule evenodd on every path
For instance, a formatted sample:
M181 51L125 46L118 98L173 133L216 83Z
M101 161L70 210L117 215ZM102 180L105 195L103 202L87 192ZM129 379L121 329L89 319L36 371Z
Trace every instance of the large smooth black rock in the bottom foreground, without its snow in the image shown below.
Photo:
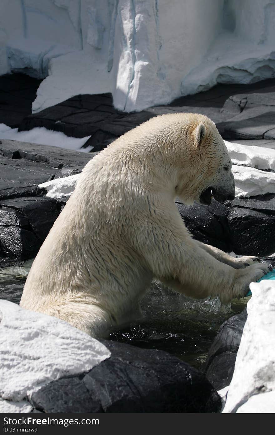
M219 412L202 372L163 351L102 341L111 357L89 373L53 381L29 398L43 412Z

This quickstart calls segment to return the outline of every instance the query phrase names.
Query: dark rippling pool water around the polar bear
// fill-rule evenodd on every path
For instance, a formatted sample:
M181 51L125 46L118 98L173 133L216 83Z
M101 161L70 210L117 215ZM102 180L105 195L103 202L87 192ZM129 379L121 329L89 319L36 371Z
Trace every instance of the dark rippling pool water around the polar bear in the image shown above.
M0 299L19 303L32 260L0 269ZM219 299L195 301L153 282L141 302L141 316L113 332L110 339L164 350L203 370L222 323L243 310L248 298L222 306Z

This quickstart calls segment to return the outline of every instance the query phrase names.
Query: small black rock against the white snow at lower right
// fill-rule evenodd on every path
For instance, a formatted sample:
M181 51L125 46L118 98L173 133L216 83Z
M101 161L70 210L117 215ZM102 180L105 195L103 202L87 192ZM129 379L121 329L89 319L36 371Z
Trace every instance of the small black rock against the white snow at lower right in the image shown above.
M220 390L230 384L235 360L247 319L246 308L241 314L225 321L209 349L205 362L206 378Z

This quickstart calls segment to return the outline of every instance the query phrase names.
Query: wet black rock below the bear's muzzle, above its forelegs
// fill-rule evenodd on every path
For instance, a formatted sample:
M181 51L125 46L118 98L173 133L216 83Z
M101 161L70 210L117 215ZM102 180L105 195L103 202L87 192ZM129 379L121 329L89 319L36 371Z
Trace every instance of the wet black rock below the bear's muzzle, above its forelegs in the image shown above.
M186 206L179 213L193 237L225 252L263 257L275 252L275 194L220 204Z

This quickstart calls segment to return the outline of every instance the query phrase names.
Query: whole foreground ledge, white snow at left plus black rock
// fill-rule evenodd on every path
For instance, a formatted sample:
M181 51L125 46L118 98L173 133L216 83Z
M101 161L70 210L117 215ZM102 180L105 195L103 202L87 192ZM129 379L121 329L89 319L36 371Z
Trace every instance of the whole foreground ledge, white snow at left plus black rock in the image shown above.
M2 413L221 409L205 375L166 352L99 342L9 301L0 301L0 318Z

